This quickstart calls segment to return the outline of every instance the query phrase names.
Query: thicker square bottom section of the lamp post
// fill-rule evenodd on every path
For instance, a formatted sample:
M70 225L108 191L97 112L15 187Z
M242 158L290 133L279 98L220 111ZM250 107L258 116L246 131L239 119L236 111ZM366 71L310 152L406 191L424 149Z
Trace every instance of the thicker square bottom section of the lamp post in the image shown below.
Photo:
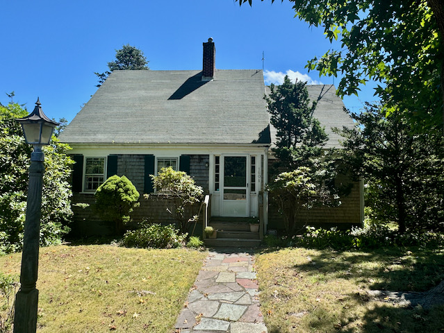
M15 296L14 333L31 333L37 329L38 290L19 290Z

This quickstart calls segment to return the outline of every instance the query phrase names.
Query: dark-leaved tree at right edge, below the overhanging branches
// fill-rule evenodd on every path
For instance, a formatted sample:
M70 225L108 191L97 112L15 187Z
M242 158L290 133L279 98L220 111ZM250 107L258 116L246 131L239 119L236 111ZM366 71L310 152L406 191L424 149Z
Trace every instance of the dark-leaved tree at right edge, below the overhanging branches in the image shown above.
M386 117L386 114L390 114ZM345 163L367 180L365 202L373 220L395 222L399 231L438 230L444 223L444 140L415 134L399 110L368 105L350 113L344 128ZM431 186L432 185L432 186Z

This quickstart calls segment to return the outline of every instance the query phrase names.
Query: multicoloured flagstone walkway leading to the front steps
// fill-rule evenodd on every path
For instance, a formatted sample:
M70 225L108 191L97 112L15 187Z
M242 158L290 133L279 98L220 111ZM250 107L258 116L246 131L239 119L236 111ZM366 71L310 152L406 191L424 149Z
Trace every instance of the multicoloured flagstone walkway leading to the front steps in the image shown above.
M176 333L267 333L254 257L211 251L176 323Z

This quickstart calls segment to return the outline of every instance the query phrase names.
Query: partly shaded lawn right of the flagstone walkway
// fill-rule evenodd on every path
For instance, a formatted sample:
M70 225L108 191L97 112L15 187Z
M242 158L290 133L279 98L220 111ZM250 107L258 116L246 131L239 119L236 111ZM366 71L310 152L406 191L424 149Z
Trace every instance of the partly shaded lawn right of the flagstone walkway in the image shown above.
M426 291L444 280L444 250L337 252L286 248L256 255L269 333L444 332L444 307L425 311L368 291Z

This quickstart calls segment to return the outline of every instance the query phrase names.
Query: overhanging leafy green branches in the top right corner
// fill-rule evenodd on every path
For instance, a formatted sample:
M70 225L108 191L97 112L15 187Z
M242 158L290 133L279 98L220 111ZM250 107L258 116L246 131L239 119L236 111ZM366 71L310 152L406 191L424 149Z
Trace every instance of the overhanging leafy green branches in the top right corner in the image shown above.
M343 74L340 96L375 80L382 103L409 114L416 131L442 126L444 0L290 1L299 19L322 26L331 42L340 40L343 49L307 65L320 75Z

